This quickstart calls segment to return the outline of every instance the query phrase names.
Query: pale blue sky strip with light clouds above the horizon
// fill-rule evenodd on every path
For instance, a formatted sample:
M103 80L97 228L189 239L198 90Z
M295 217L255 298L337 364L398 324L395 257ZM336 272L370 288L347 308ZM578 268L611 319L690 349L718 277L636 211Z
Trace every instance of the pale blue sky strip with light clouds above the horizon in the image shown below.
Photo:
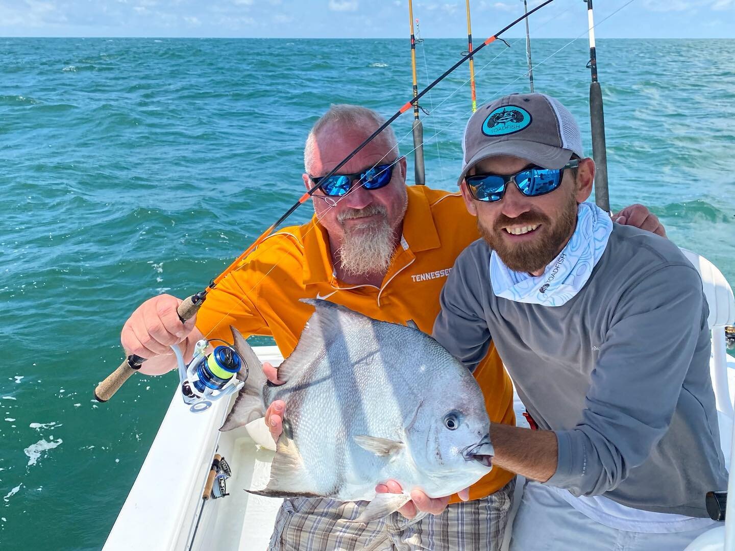
M603 21L627 1L596 0L598 37L735 37L735 0L634 0ZM470 4L476 40L523 13L520 0ZM555 0L532 35L576 37L585 12L581 0ZM467 32L465 0L415 0L414 17L426 38ZM0 0L2 36L405 37L408 26L408 0Z

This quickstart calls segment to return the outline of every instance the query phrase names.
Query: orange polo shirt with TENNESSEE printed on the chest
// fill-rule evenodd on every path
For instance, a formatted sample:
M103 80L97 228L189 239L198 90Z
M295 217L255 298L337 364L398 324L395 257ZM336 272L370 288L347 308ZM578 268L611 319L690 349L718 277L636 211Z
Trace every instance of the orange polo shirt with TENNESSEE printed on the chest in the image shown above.
M426 186L407 189L404 234L381 287L348 285L334 276L329 238L312 217L309 223L283 228L262 242L240 269L209 292L196 326L209 339L231 341L229 325L244 336L273 336L285 358L314 312L313 306L298 299L318 297L376 320L401 324L413 320L431 334L447 275L459 253L479 234L459 193ZM513 425L513 388L494 346L474 375L490 420ZM470 499L492 494L512 477L493 467L472 486Z

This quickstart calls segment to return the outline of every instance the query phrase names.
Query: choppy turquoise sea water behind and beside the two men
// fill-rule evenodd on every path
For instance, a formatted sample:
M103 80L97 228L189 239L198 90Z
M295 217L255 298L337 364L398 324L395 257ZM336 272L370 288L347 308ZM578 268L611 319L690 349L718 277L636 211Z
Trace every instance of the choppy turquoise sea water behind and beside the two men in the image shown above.
M500 54L478 72L483 101L527 90L523 40L510 42L476 58L479 71ZM536 89L570 107L587 136L587 43L558 51L568 42L534 41L535 61L549 58ZM121 361L126 317L159 292L201 289L293 204L306 132L330 103L401 107L407 46L0 39L0 547L102 546L176 380L136 376L93 402ZM420 84L465 47L420 45ZM648 205L731 282L734 50L735 40L598 43L612 204ZM460 68L423 101L434 187L455 186L466 79ZM404 152L410 122L395 126ZM304 206L290 221L308 216Z

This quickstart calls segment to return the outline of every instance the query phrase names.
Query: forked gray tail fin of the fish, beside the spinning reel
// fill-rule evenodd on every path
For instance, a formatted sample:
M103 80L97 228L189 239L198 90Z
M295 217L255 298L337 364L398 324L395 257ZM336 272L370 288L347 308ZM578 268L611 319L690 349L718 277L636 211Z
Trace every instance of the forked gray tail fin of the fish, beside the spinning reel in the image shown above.
M245 381L245 384L240 389L234 406L232 406L232 411L227 415L220 431L232 431L233 428L242 427L254 419L265 416L263 388L265 383L268 382L268 378L263 372L262 362L251 346L248 345L245 337L240 334L240 331L237 331L232 325L230 325L230 329L232 330L234 349L237 350L243 360L243 367L237 372L237 378L240 381Z

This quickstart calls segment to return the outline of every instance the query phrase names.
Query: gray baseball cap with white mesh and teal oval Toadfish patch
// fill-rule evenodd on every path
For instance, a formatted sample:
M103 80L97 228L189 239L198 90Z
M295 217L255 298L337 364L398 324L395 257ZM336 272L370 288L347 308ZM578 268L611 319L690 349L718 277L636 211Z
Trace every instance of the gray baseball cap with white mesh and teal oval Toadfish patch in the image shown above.
M465 127L458 184L477 162L509 155L542 168L584 157L579 126L569 110L545 94L511 94L479 107Z

